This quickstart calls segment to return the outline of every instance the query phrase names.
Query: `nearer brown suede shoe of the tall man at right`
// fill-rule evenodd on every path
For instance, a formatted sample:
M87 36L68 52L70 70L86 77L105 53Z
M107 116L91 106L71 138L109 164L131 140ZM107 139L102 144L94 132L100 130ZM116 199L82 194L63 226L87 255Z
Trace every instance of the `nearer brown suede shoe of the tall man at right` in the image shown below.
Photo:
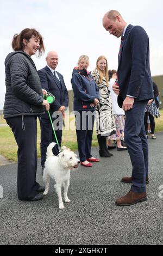
M147 200L146 192L134 192L129 191L126 196L118 198L115 202L116 205L127 206L133 205L139 202L143 202Z

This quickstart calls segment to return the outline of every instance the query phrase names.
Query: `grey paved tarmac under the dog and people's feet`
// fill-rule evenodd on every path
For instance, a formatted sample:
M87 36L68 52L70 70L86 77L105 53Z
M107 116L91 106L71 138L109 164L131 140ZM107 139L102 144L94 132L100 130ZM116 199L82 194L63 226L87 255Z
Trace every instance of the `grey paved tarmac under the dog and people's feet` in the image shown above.
M17 164L0 166L0 245L163 245L163 132L149 142L148 200L116 206L130 190L121 182L131 174L127 151L111 150L109 159L71 173L65 209L59 210L53 181L43 200L17 199ZM92 149L98 157L98 149ZM37 181L42 182L40 163ZM162 185L161 190L159 186ZM162 191L162 192L161 192Z

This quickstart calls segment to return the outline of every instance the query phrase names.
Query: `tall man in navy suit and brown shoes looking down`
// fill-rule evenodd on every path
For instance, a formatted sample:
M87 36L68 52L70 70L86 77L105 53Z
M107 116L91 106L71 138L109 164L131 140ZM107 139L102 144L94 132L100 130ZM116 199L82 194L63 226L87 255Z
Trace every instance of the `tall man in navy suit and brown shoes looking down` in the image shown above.
M133 205L147 200L148 142L143 123L145 107L153 98L152 78L149 67L149 38L140 26L128 25L116 10L103 17L103 27L119 38L117 81L113 86L118 95L118 105L126 111L124 139L131 164L131 177L122 182L132 183L130 191L116 200L116 205Z

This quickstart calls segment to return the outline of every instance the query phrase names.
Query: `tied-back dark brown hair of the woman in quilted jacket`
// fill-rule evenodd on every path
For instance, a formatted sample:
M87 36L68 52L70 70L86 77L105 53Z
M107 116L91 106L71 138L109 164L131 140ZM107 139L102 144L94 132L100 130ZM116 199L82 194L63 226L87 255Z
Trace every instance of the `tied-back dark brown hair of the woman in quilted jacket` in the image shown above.
M23 51L24 50L24 43L23 39L26 39L27 42L30 38L34 36L35 38L40 39L40 48L39 48L39 55L41 55L43 52L45 52L45 47L43 45L43 39L39 32L36 31L34 28L25 28L21 31L20 34L15 34L12 39L12 49L14 51Z

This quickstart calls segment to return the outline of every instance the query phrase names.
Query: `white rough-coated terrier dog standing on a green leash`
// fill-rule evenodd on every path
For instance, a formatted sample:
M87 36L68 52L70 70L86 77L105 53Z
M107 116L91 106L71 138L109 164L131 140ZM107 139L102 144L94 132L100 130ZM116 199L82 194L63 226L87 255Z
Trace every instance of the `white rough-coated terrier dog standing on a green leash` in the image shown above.
M61 196L61 187L64 186L64 199L65 202L70 202L67 197L68 186L70 185L70 170L78 168L80 161L77 159L77 155L65 146L62 147L61 153L58 156L54 156L52 148L55 146L52 142L47 147L47 159L45 162L45 169L43 170L43 181L45 182L45 191L43 194L47 194L49 190L49 179L55 180L55 190L58 194L59 209L64 209L64 203Z

